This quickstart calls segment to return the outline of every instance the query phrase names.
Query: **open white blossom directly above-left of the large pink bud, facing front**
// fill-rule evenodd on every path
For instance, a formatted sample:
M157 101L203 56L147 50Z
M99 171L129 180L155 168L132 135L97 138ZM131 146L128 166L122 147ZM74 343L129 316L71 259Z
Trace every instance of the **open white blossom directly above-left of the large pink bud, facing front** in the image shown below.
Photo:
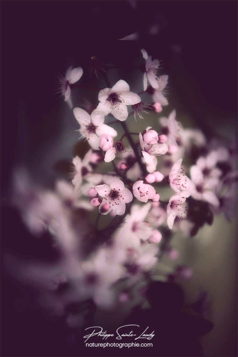
M97 109L92 111L91 116L81 108L75 108L73 111L76 120L80 124L79 132L82 134L82 137L87 139L88 144L92 149L98 150L101 135L107 134L112 137L117 136L115 129L103 124L104 117Z

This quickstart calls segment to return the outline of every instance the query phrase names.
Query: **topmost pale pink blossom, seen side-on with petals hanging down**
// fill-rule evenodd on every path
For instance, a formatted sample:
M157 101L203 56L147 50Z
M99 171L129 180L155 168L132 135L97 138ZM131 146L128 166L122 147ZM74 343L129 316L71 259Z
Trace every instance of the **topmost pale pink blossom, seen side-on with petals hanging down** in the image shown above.
M151 61L151 56L148 56L146 50L142 49L141 53L143 58L146 60L145 63L145 73L143 77L144 91L147 89L147 81L150 82L153 88L159 88L157 70L159 68L159 60Z

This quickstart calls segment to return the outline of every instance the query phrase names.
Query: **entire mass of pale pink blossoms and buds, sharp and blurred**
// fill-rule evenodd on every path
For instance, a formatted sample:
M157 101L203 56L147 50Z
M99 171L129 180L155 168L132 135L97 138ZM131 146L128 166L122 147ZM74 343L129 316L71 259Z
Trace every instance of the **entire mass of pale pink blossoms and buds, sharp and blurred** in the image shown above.
M32 232L47 229L55 237L65 258L59 271L64 269L64 281L77 281L79 301L92 297L101 306L128 301L133 284L150 275L162 253L176 259L177 252L169 243L163 244L169 230L193 235L205 222L211 224L207 217L197 222L201 202L211 214L227 213L227 205L235 196L237 170L232 148L216 141L208 143L199 129L184 129L176 120L175 110L168 118L159 117L153 127L145 125L143 132L128 130L126 121L132 120L131 114L142 118L146 110L159 113L168 105L164 95L168 76L157 76L159 61L152 61L144 49L141 52L145 59L143 90L151 94L153 103L143 102L143 92L131 92L123 79L100 89L99 103L90 114L79 107L73 109L81 137L91 149L82 159L74 157L74 174L69 181L57 181L55 192L45 192L31 189L24 175L18 175L17 203L23 202L24 221ZM62 94L71 108L71 89L82 74L81 67L70 67L61 79ZM130 113L128 105L132 106ZM108 115L121 122L125 132L121 138L112 126L104 124ZM194 148L196 160L192 157ZM160 195L166 186L171 193L167 201L162 201ZM90 224L82 224L79 216L79 224L75 224L74 212L79 209L98 210L98 215L110 213L113 218L108 227L98 230L98 216L92 234ZM90 257L79 257L76 252L87 235L96 237L88 244L97 247L103 236L101 246L96 251L92 247ZM180 267L174 275L188 278L191 271ZM124 286L117 291L116 297L111 287L121 279L126 279L126 289Z

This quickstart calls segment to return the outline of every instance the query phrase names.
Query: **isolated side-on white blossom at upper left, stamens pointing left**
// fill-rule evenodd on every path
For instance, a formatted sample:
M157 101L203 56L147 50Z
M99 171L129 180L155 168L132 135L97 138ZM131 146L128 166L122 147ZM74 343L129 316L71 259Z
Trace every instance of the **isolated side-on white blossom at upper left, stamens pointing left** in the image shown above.
M69 104L70 109L72 109L72 100L70 97L71 94L71 89L70 89L70 84L74 84L77 82L83 74L83 69L82 67L77 67L72 69L72 66L69 67L66 71L65 77L60 77L59 79L59 84L60 84L60 89L62 95L65 96L65 101Z

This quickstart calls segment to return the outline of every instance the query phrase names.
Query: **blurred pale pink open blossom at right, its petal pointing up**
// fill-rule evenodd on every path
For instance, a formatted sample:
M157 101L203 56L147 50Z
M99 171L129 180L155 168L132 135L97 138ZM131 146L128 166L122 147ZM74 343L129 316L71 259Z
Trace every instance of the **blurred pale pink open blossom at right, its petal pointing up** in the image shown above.
M218 186L218 178L204 178L202 170L196 165L191 166L190 176L193 183L191 186L191 196L195 200L207 201L214 206L219 206L219 200L213 191Z

